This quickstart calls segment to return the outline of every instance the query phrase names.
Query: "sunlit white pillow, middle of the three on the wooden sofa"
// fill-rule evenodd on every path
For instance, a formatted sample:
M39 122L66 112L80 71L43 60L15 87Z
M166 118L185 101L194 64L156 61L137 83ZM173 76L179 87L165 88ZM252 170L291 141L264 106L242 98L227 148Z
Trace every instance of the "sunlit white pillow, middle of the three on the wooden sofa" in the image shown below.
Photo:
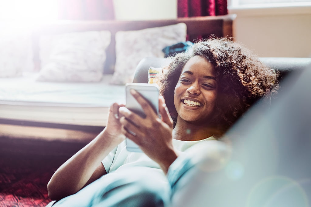
M40 39L38 81L97 82L103 75L109 31L87 31Z

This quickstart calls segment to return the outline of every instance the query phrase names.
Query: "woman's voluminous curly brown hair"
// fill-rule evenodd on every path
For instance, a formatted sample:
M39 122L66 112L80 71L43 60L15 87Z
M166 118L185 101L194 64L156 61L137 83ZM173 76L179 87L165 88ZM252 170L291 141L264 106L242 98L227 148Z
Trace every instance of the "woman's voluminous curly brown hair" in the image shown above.
M184 65L193 56L202 56L216 70L218 98L213 123L219 137L262 97L270 97L278 89L277 74L263 65L246 47L229 38L212 37L196 42L187 52L174 56L160 77L160 93L176 123L174 88Z

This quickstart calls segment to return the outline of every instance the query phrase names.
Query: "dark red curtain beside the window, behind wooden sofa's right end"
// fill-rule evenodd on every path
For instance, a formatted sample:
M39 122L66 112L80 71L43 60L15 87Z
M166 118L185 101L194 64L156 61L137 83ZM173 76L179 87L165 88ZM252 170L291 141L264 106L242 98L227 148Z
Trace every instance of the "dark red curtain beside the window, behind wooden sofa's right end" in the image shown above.
M228 14L227 0L177 0L177 16L216 16Z

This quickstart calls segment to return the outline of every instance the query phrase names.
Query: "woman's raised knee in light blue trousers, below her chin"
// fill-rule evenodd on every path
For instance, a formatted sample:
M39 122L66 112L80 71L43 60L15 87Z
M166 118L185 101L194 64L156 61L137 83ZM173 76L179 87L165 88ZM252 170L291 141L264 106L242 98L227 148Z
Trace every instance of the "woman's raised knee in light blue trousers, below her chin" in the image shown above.
M230 206L217 205L223 200L219 192L227 182L223 169L230 156L230 147L216 140L197 144L179 155L167 173L170 206ZM219 190L217 194L215 190Z

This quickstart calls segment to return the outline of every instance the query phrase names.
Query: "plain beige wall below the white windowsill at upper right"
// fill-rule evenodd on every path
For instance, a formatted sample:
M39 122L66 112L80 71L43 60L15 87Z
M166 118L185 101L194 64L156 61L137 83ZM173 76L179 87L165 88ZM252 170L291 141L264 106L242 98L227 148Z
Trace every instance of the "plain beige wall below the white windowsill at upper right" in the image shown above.
M311 6L230 9L235 40L262 57L311 56Z

